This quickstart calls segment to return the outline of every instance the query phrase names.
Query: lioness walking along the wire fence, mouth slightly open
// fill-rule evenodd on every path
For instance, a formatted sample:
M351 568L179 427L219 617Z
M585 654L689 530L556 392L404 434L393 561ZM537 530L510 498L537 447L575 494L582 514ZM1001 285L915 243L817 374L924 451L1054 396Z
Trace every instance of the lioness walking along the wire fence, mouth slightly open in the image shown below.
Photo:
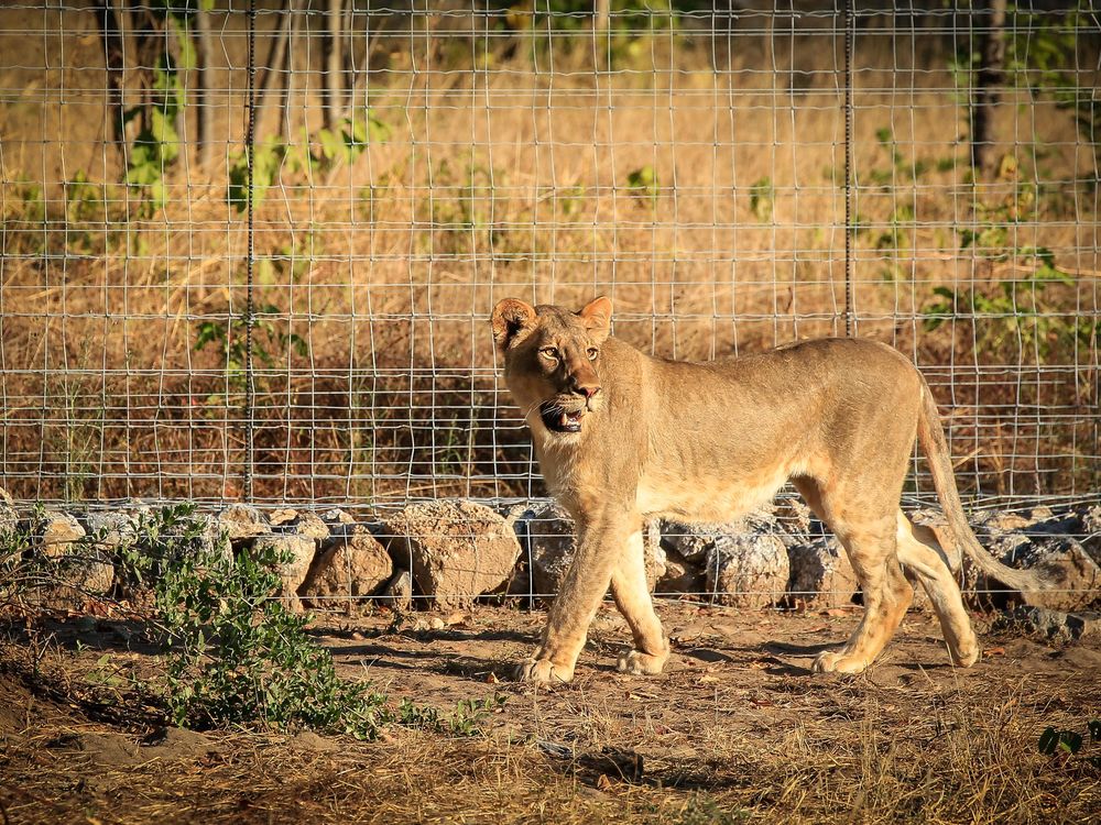
M895 350L824 339L726 361L665 361L609 338L611 314L602 297L579 312L514 298L493 310L505 383L531 426L547 487L578 528L542 645L519 679L573 678L609 583L634 636L619 670L661 672L669 644L646 586L643 519L730 521L788 480L840 539L863 590L860 626L815 670L864 670L909 606L907 578L928 593L952 662L973 664L979 642L942 551L898 508L915 435L957 544L1005 584L1040 588L1034 574L979 546L936 403Z

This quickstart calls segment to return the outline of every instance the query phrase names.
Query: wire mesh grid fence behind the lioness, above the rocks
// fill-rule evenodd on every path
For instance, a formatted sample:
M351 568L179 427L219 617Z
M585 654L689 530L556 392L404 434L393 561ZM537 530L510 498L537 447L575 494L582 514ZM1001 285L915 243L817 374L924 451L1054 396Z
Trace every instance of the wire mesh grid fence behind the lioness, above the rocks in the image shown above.
M968 504L1095 499L1094 6L854 3L848 141L844 4L719 6L258 0L250 178L243 0L7 3L3 486L538 498L495 301L608 295L678 359L844 334L848 229Z

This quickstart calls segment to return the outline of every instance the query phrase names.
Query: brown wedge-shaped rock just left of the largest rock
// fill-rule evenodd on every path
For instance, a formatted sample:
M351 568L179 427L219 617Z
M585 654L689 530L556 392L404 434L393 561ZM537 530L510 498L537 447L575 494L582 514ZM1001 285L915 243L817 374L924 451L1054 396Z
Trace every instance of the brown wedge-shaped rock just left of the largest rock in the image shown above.
M298 595L317 608L350 609L390 580L393 562L364 525L334 521L330 530Z

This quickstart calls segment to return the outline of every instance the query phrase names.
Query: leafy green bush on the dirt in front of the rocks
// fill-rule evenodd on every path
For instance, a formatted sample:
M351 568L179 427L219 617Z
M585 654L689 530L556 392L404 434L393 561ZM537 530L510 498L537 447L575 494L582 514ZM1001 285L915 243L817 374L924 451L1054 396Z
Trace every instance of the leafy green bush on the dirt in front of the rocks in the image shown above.
M389 721L385 697L337 675L333 657L305 634L306 618L277 598L290 561L272 544L236 559L201 541L205 525L181 506L150 546L168 560L153 582L165 648L164 698L177 725L263 722L373 738ZM189 549L179 552L176 544Z

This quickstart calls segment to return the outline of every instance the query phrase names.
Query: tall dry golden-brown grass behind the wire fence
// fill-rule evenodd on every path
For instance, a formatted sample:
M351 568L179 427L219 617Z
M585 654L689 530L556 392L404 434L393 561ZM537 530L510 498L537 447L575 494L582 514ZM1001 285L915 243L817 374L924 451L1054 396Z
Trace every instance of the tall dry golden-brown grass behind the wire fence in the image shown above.
M40 499L236 497L246 235L226 180L243 75L216 76L232 90L212 127L225 160L200 168L185 152L166 207L142 218L140 193L112 183L90 15L3 14L19 55L3 85L28 89L4 105L6 484ZM237 65L239 23L221 41ZM539 64L501 46L480 58L493 70L471 72L446 63L462 22L437 23L380 64L368 102L386 139L328 169L284 158L258 209L262 499L532 492L484 324L500 297L608 293L617 334L679 358L843 331L832 37L716 48L661 34L612 74L584 50ZM1066 112L1017 96L995 129L1005 160L971 183L947 57L930 33L858 41L857 330L927 367L971 492L1082 495L1099 454L1097 334L1075 326L1099 312L1092 161ZM313 92L292 112L292 142L316 138ZM275 131L269 119L261 136ZM78 172L86 190L64 185ZM994 249L962 248L989 226ZM1029 248L1067 283L972 314L972 292L1032 276ZM940 286L960 306L928 332ZM196 349L204 329L215 338Z

